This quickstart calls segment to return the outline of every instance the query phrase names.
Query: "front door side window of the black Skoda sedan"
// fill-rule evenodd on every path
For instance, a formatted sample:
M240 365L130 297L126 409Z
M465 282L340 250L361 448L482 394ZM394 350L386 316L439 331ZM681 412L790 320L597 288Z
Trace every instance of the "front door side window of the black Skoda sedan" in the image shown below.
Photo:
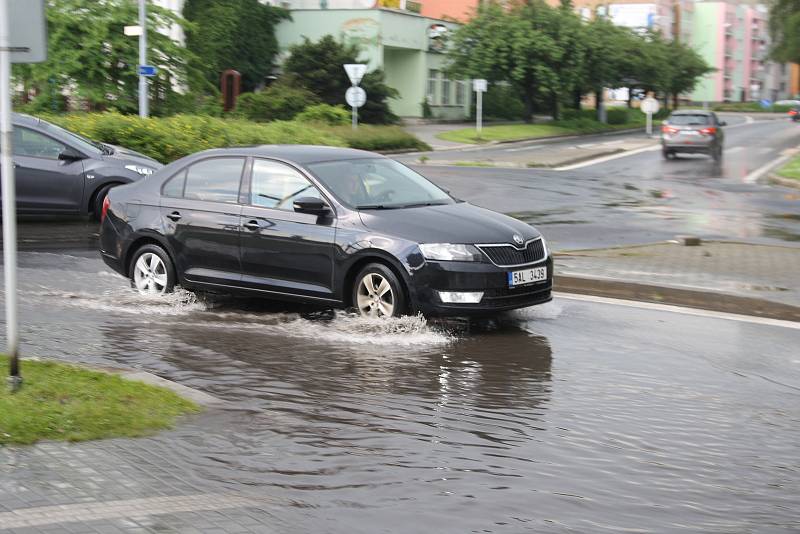
M288 165L263 159L253 161L252 205L291 211L294 200L301 197L322 198L314 184Z

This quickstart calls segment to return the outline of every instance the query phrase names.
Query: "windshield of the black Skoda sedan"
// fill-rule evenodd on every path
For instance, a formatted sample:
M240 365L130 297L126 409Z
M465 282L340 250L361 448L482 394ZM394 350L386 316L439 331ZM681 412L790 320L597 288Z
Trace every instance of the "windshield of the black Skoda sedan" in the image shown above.
M351 208L397 209L455 202L425 177L392 159L327 161L308 168Z

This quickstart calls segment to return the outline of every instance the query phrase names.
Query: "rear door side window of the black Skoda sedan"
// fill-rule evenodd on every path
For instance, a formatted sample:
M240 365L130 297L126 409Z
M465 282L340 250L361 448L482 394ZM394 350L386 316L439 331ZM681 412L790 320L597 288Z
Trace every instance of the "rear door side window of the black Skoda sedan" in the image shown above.
M195 163L186 171L183 197L236 203L243 168L244 158L214 158Z

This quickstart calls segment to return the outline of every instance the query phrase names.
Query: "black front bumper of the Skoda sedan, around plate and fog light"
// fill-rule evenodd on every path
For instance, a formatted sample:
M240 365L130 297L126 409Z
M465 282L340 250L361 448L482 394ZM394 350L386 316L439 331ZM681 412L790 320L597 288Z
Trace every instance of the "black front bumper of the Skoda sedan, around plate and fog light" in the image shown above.
M508 287L510 271L542 266L547 267L547 280ZM489 262L426 261L414 271L409 289L414 309L431 316L491 315L525 308L552 299L553 259L507 268ZM477 304L450 304L440 300L439 291L482 291L483 298Z

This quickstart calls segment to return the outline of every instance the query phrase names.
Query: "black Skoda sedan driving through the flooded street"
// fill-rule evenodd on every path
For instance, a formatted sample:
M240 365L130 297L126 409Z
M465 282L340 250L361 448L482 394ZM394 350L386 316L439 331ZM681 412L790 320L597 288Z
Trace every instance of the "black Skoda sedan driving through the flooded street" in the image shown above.
M200 152L113 189L103 214L103 259L144 293L180 284L369 316L551 299L552 259L535 228L360 150Z

